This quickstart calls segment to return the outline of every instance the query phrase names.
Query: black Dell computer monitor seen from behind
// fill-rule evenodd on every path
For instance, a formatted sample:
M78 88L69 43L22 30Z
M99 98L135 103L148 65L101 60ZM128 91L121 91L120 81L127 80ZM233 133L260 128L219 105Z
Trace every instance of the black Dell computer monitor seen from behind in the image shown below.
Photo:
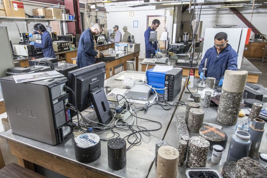
M104 62L75 69L68 73L68 85L76 96L77 109L83 111L93 104L98 121L102 124L107 124L112 119L112 113L103 90L105 73ZM73 94L70 96L71 104L75 106ZM75 114L72 112L72 116Z

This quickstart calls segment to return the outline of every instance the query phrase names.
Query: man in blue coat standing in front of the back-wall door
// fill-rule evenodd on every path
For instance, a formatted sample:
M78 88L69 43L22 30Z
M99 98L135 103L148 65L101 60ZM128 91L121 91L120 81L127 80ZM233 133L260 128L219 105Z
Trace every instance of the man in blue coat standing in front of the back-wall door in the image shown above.
M152 21L152 25L147 28L147 30L144 32L144 38L145 38L145 45L146 45L146 58L150 58L151 54L153 55L160 55L160 50L158 49L158 45L156 43L153 43L149 41L150 37L150 31L155 31L158 26L160 25L160 21L158 19L154 19Z

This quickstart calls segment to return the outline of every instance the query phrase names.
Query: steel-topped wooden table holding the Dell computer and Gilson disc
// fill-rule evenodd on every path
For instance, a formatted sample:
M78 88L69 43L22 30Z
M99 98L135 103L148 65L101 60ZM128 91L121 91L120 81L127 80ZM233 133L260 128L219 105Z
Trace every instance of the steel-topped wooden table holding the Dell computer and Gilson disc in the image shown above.
M121 81L115 79L125 72L120 72L105 80L105 86L120 88ZM183 77L182 90L185 86L185 80L186 77ZM179 100L181 93L177 95L174 101ZM50 146L14 135L10 130L0 136L8 141L11 153L17 156L18 163L24 167L32 168L32 163L35 163L68 177L147 177L155 155L155 143L163 139L174 112L175 108L163 110L160 106L153 105L146 113L137 113L138 117L160 122L162 128L158 131L151 131L150 134L152 136L150 137L142 134L142 142L127 151L127 165L119 171L108 167L107 141L101 141L100 158L93 163L84 164L75 159L73 134L69 135L64 142L57 146ZM136 124L136 121L134 124ZM138 125L144 126L147 129L159 128L157 123L151 123L142 119L138 119ZM116 131L120 133L121 138L130 133L130 131ZM99 134L101 139L109 138L112 135L111 131ZM131 139L134 141L134 138ZM128 146L129 144L127 143Z

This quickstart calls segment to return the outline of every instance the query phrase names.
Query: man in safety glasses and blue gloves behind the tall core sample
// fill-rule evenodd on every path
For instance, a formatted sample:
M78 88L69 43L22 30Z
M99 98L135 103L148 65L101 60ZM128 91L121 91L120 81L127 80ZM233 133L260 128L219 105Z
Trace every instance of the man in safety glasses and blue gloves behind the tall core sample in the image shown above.
M222 86L225 70L237 70L237 57L236 51L228 44L227 34L225 32L217 33L214 36L214 46L206 51L199 64L199 78L214 77L216 80L220 80L218 85ZM208 58L207 71L203 76L202 68L204 68L206 58Z

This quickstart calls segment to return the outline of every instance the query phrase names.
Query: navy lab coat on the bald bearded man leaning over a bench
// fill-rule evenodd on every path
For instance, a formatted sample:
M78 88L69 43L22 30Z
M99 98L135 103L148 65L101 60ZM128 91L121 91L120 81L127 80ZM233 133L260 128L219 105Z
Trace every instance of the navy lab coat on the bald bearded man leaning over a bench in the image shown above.
M77 61L76 64L78 68L92 65L96 62L94 56L97 55L97 52L94 50L94 36L90 28L87 28L79 40L78 52L77 52Z

